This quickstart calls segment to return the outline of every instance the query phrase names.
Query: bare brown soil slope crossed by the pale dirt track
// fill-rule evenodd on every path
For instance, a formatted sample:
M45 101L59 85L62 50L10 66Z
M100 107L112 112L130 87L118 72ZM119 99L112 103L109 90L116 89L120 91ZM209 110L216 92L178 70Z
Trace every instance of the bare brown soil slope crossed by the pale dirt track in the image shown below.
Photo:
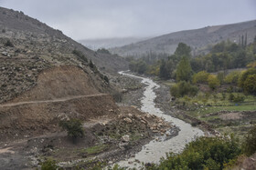
M112 95L101 94L96 86L89 74L75 66L42 71L30 91L0 105L2 140L54 132L61 118L113 115L118 107Z

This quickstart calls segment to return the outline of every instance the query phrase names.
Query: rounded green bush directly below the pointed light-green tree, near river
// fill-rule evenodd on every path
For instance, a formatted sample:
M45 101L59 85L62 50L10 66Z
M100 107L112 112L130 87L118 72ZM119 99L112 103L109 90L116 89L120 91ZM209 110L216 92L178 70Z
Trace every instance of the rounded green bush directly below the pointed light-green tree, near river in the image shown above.
M197 95L198 88L195 85L191 85L186 81L181 81L170 88L171 95L175 97L181 97L184 95L195 96Z

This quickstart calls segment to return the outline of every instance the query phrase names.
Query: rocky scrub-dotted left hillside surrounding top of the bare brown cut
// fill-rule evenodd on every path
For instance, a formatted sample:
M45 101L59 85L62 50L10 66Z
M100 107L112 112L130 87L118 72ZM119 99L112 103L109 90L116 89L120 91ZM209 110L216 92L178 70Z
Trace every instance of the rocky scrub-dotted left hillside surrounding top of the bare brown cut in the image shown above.
M37 85L43 70L62 65L82 69L88 76L83 85L90 84L101 93L114 91L105 74L127 69L117 55L98 54L37 19L0 8L0 103Z

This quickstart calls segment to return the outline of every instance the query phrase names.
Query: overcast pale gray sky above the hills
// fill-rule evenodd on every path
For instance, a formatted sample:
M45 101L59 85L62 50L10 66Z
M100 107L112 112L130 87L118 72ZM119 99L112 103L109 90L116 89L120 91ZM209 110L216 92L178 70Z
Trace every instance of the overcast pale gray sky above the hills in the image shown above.
M0 0L80 40L164 35L256 19L255 0Z

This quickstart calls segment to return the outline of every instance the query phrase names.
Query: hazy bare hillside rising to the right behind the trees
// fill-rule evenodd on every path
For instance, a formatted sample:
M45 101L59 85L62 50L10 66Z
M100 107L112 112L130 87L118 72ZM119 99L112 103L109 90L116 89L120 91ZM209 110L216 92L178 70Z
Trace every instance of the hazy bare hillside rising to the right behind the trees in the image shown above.
M171 55L175 52L178 43L190 45L193 54L204 52L208 45L230 40L239 43L242 35L247 35L247 43L253 41L256 35L256 20L231 25L207 26L200 29L187 30L161 35L142 42L110 49L112 54L122 56L133 55L141 57L149 52ZM206 51L205 51L206 52Z

